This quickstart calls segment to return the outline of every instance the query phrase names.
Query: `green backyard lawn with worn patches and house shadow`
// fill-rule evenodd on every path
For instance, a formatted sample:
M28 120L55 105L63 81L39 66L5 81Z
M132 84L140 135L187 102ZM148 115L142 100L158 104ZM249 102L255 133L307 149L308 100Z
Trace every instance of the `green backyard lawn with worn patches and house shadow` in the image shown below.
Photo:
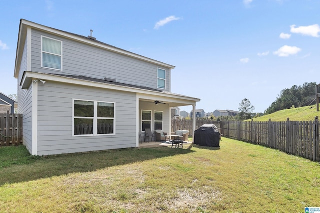
M0 212L303 213L320 207L320 165L222 138L220 149L30 156L0 148Z

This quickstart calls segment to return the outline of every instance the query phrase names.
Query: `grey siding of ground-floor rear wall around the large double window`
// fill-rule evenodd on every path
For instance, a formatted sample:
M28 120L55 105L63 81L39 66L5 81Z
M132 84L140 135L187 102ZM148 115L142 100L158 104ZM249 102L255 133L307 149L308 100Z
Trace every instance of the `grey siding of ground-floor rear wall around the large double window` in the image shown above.
M115 103L115 134L73 137L72 100ZM135 104L135 93L53 81L38 83L38 155L136 147Z

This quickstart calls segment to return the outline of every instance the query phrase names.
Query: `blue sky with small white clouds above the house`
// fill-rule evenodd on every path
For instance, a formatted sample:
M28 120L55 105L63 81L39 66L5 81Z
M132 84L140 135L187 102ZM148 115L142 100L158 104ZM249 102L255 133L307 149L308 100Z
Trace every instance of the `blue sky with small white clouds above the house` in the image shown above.
M263 112L282 89L320 82L319 0L11 0L0 15L0 92L13 78L20 18L162 61L196 109ZM191 106L181 107L190 111Z

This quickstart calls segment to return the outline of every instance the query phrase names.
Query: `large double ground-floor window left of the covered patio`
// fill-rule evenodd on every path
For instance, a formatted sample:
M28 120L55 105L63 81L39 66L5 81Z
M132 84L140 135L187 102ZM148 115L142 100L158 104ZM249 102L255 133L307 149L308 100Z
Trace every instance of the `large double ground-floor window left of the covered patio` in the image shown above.
M73 99L73 136L113 135L114 103Z

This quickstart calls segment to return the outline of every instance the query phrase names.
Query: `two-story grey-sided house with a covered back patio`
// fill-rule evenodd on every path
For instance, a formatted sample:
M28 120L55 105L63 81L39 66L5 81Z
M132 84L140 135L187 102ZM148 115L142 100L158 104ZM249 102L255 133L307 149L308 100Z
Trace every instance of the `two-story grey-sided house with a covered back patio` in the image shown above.
M174 66L21 19L14 77L23 144L32 155L138 147L138 132L170 132ZM195 123L194 123L195 128ZM193 130L194 131L194 130Z

